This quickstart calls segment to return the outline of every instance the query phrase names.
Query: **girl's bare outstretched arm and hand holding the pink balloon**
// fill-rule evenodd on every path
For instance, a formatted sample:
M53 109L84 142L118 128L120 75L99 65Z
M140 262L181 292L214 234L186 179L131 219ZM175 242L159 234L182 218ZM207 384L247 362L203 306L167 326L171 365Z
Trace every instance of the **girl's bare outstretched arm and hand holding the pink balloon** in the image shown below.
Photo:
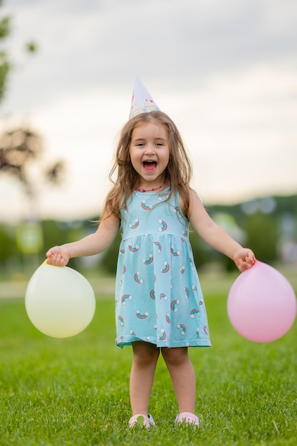
M245 271L254 265L254 252L241 247L241 244L209 217L197 193L192 189L189 189L189 221L209 246L234 260L239 271Z

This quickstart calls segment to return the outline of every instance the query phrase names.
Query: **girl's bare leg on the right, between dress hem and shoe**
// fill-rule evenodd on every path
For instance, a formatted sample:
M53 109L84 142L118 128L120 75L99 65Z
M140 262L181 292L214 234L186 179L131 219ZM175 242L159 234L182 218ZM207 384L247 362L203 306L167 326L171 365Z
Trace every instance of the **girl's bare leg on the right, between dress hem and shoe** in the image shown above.
M187 347L162 348L162 356L172 379L179 413L194 413L196 378Z

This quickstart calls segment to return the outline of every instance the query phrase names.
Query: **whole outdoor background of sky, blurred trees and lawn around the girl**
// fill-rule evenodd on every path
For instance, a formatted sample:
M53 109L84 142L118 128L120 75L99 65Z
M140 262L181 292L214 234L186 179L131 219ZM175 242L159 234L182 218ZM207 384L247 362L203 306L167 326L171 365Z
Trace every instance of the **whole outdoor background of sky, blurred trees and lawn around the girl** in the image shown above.
M46 250L95 231L135 76L182 133L209 214L297 289L297 4L293 0L0 1L0 445L296 444L296 323L251 343L226 299L239 272L191 232L213 348L194 349L197 432L127 432L130 350L114 346L119 238L71 259L97 299L80 335L48 338L24 308ZM100 340L100 342L99 342Z

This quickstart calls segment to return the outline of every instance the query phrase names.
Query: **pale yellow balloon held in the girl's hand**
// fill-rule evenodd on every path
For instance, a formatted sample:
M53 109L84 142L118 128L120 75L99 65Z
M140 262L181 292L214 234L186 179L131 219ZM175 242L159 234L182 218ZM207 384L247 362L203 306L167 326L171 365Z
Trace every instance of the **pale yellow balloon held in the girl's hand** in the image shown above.
M53 338L68 338L92 321L95 295L78 271L45 261L28 282L25 306L28 318L39 331Z

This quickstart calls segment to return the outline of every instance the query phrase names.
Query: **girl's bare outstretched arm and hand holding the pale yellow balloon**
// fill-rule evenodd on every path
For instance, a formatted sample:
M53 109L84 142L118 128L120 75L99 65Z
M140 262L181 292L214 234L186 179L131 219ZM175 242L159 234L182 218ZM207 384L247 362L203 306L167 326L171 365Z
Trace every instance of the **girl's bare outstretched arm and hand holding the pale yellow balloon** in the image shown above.
M108 214L108 217L104 215ZM54 266L65 266L72 257L93 256L105 251L115 239L120 228L120 221L113 214L105 212L99 227L94 234L90 234L77 242L66 243L48 249L47 263Z

